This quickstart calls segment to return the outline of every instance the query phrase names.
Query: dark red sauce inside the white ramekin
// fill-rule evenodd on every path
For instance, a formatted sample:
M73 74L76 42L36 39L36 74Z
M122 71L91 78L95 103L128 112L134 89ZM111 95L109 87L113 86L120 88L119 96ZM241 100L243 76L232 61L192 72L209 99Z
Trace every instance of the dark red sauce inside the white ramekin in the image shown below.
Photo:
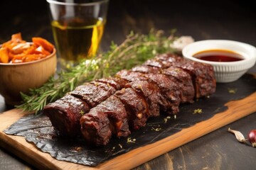
M237 62L244 60L242 55L230 50L204 50L197 52L193 57L210 62Z

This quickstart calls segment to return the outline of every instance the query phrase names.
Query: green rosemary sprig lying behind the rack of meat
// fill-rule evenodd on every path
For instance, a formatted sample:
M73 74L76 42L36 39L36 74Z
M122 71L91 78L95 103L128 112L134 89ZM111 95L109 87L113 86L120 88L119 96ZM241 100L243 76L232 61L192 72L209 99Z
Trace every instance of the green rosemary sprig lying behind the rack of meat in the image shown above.
M148 35L130 33L121 45L112 42L108 52L102 52L91 60L82 60L80 64L66 71L58 72L46 84L21 94L23 103L16 108L38 113L47 103L63 97L69 91L85 81L113 76L121 69L130 69L142 64L156 54L174 52L170 47L174 41L174 32L167 37L162 30L151 30Z

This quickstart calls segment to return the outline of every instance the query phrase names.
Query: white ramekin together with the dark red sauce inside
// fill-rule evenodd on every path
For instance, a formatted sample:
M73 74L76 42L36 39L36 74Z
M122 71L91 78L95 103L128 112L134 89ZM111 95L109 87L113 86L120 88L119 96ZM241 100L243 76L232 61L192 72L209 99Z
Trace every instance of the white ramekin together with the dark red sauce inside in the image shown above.
M182 50L183 57L213 65L216 81L228 83L238 80L256 62L256 48L233 40L201 40Z

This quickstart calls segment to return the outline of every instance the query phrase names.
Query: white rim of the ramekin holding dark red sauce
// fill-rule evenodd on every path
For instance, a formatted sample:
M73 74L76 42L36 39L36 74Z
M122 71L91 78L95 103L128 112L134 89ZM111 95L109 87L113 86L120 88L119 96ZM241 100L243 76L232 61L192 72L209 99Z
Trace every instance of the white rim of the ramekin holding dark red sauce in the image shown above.
M193 55L190 55L190 54L188 55L188 50L190 50L193 47L198 47L202 43L208 43L208 44L215 43L215 44L218 44L218 45L220 45L220 43L230 43L232 45L243 47L243 48L247 49L248 51L250 50L251 53L252 53L252 56L249 56L249 55L242 56L244 58L244 60L235 61L235 62L212 62L212 61L200 60L196 57L193 57ZM213 48L209 47L207 50L230 50L230 49L227 49L225 47L213 47ZM199 51L200 50L198 50L198 52ZM201 51L203 51L203 50L201 50ZM233 51L238 52L235 49ZM195 52L195 54L196 54L196 52ZM240 54L240 52L238 52L238 54ZM182 55L183 55L183 57L186 57L186 58L188 58L190 60L193 60L193 61L196 61L196 62L203 62L203 63L206 63L206 64L213 64L213 65L218 65L218 66L222 66L222 65L223 66L224 65L232 66L232 65L237 65L237 64L243 64L243 63L246 63L248 61L255 64L255 62L256 62L256 47L254 47L253 45L247 44L245 42L239 42L239 41L235 41L235 40L199 40L199 41L196 41L196 42L192 42L189 45L186 45L186 47L184 47L183 50L182 50Z

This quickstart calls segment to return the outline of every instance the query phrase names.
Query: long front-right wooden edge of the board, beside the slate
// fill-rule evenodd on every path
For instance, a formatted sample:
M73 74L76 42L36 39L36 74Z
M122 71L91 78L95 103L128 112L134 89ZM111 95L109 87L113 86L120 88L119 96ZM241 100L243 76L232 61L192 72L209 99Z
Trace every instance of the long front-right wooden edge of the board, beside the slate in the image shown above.
M120 167L122 167L122 169L132 169L151 159L159 157L172 149L185 145L192 140L196 140L198 137L202 137L209 132L213 132L229 123L233 123L235 120L250 115L256 111L256 92L242 100L230 101L226 106L228 106L227 111L217 113L213 118L197 123L190 128L184 128L180 132L177 132L170 137L166 137L163 140L159 140L158 142L154 142L151 145L139 147L127 154L122 154L109 162L101 164L99 167L101 169L119 169ZM243 114L241 114L241 112ZM225 118L226 116L230 116L230 118L227 120ZM204 127L207 125L207 127L201 129L202 125ZM152 155L152 153L154 153L154 155ZM134 159L135 156L142 159Z

